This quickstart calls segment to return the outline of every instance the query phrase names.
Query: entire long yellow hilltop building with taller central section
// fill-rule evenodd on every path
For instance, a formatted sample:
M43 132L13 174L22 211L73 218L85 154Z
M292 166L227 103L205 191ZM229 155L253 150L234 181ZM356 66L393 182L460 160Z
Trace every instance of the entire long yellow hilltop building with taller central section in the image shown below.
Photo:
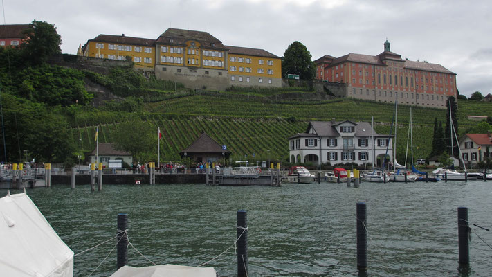
M224 46L197 30L168 28L157 39L98 35L82 47L82 55L112 60L129 56L157 78L193 89L282 87L280 57L263 49Z

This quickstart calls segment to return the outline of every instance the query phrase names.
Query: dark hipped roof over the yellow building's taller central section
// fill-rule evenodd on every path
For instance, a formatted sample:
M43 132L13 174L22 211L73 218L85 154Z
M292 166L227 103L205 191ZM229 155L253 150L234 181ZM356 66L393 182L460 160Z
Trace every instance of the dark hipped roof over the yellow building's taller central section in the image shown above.
M201 48L221 48L226 50L224 44L222 44L219 39L207 32L176 28L168 28L165 30L165 32L157 38L156 44L184 45L185 42L188 42L189 40L200 42ZM214 44L214 46L212 46L212 44Z

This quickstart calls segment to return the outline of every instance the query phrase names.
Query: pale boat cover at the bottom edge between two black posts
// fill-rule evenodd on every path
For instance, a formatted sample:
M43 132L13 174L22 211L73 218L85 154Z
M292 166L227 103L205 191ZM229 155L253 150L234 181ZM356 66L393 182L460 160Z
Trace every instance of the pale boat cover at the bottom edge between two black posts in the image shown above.
M111 277L215 277L213 267L154 265L152 267L120 267Z

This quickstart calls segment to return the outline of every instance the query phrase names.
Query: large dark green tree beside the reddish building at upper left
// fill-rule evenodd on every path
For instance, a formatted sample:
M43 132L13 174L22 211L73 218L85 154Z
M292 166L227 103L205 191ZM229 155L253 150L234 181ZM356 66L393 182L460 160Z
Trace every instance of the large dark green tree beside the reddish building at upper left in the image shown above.
M22 33L24 41L21 44L21 49L33 64L42 64L51 55L62 53L60 48L62 37L58 35L53 24L33 20Z

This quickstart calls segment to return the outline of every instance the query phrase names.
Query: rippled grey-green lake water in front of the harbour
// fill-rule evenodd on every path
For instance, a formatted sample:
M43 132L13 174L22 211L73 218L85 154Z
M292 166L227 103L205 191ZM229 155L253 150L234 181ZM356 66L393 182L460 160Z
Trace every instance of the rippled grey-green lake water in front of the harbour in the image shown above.
M471 224L490 229L491 181L106 185L92 193L89 186L53 186L28 195L75 253L113 238L118 213L128 213L130 242L156 264L197 266L214 258L233 245L236 212L246 209L249 276L357 276L356 203L365 202L368 276L492 274L492 231L473 225L471 267L459 270L457 263L457 207L469 208ZM75 256L75 276L89 276L115 244ZM151 264L129 248L129 265ZM234 247L209 265L236 276ZM116 249L92 276L114 271Z

